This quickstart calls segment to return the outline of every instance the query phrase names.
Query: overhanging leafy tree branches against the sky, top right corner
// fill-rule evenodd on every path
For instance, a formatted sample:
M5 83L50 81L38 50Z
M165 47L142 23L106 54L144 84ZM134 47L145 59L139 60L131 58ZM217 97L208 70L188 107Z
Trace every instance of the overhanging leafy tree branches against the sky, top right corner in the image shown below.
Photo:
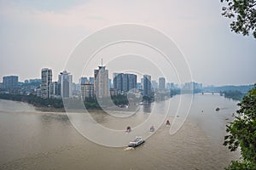
M255 0L220 0L226 3L222 8L227 18L236 18L230 24L231 31L241 33L248 36L249 32L253 32L256 39L256 1Z

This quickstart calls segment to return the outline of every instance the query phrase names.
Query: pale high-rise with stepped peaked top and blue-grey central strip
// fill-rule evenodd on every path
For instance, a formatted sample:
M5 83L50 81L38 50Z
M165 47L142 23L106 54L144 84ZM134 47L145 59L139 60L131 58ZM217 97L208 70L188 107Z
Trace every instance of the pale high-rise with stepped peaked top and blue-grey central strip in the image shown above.
M73 83L72 75L67 72L63 71L59 75L59 83L61 84L61 97L62 98L71 98L73 96L72 91L72 83Z

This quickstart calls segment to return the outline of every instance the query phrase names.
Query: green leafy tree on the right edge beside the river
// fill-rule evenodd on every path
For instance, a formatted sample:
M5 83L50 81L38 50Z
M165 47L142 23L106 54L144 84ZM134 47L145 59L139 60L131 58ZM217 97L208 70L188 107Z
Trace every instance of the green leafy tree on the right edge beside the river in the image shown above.
M240 147L242 157L226 169L256 169L256 84L238 105L235 120L226 126L229 134L224 137L224 145L231 151Z

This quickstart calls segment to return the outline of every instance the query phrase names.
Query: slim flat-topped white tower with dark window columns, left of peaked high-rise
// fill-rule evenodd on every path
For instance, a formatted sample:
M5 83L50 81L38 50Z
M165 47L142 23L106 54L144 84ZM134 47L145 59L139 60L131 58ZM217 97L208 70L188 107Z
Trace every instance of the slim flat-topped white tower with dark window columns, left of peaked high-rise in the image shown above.
M41 71L41 97L44 99L50 98L50 84L52 82L51 69L44 68Z

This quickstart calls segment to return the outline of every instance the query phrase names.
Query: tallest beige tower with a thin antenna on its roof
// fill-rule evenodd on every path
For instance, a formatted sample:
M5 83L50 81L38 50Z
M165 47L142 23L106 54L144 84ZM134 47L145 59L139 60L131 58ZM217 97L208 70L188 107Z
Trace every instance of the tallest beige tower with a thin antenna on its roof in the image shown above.
M99 69L94 70L94 91L98 98L109 96L108 70L106 70L106 66L99 66Z

